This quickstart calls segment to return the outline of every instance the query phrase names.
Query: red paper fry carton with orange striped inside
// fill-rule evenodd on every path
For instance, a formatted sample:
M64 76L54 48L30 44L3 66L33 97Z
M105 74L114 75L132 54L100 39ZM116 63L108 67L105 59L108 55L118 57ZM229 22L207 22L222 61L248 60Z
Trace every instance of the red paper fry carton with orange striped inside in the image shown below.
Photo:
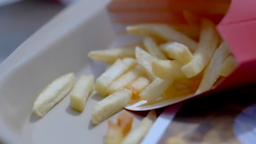
M165 23L179 27L184 22L182 10L200 12L201 16L217 23L221 37L227 41L239 66L219 85L197 95L202 96L256 82L256 2L230 1L209 0L204 3L203 0L113 0L108 5L108 11L117 34L120 34L120 25Z

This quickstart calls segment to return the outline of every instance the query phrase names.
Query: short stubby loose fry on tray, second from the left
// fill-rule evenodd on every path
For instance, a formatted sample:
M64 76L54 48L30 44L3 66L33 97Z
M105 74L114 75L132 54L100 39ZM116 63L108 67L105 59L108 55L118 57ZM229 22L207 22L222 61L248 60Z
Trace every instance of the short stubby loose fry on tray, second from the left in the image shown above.
M70 93L70 105L73 109L82 112L85 107L85 102L88 96L93 91L94 76L83 75L75 84Z

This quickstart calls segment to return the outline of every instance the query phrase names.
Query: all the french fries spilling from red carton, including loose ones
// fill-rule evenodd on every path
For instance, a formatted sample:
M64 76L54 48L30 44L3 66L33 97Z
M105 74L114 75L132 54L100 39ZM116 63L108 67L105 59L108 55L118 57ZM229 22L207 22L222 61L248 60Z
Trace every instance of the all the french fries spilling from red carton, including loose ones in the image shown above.
M73 73L63 75L40 93L33 111L43 117L70 92L71 107L82 112L95 90L105 97L93 109L92 122L98 125L136 101L152 104L160 98L172 99L208 91L220 77L227 77L237 63L211 20L189 21L200 24L198 41L165 24L128 26L128 34L143 37L140 44L88 53L94 61L111 64L96 79L95 85L93 75L83 75L77 83ZM118 118L118 124L109 121L106 143L139 143L155 119L155 112L151 111L136 129L131 130L133 116L125 112Z

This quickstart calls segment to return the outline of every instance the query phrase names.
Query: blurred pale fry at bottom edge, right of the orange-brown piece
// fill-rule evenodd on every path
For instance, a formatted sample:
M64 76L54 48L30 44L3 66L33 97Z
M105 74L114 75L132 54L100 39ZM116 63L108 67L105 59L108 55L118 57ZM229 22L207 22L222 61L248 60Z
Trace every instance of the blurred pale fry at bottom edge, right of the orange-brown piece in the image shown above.
M125 136L121 144L139 144L155 122L156 118L157 115L155 110L151 110L141 123Z

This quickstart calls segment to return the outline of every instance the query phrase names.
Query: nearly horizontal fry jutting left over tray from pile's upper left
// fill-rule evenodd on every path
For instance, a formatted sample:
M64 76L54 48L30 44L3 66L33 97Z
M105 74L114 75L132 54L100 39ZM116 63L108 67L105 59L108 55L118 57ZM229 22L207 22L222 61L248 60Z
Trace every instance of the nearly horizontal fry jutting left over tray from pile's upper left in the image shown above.
M135 57L135 46L90 51L88 56L94 61L114 62L125 57Z

